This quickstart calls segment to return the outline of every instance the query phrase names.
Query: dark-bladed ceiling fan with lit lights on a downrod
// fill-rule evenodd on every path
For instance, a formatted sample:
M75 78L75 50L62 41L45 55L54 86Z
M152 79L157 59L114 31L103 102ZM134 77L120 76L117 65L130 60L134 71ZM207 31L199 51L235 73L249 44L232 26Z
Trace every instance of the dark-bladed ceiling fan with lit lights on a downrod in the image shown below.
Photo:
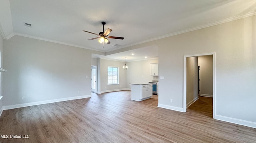
M88 32L88 33L91 33L91 34L94 34L94 35L99 36L99 37L92 38L92 39L88 39L88 40L94 40L94 39L100 38L100 40L99 40L100 43L105 42L106 44L110 44L110 41L108 40L108 38L112 38L112 39L122 39L122 40L124 39L123 37L108 36L108 34L110 34L110 32L111 32L112 30L108 28L108 29L104 32L104 25L106 24L106 22L101 22L101 24L103 25L103 32L100 32L99 34L96 34L96 33L92 33L92 32L83 30L84 32Z

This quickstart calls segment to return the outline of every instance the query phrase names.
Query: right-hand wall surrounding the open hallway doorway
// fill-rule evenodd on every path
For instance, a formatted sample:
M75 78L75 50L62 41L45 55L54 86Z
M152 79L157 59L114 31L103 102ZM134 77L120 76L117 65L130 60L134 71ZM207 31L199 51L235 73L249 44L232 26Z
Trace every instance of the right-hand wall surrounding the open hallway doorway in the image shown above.
M256 16L250 16L126 49L158 44L159 77L164 77L158 105L178 111L183 111L183 56L216 53L216 119L256 127L255 39Z

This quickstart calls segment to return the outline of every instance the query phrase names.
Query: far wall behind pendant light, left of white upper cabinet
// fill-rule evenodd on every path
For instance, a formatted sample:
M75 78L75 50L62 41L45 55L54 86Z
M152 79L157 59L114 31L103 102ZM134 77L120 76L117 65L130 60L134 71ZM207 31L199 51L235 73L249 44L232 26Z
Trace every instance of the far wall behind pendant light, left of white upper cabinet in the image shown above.
M129 83L148 83L152 80L158 80L157 76L150 75L150 64L158 63L158 59L141 60L128 62L126 71L126 87L131 89Z

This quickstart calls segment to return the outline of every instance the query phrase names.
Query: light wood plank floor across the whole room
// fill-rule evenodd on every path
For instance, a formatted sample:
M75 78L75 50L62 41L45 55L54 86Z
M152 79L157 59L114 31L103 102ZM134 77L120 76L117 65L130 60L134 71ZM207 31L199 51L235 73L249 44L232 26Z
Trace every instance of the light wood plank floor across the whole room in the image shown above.
M132 101L130 91L3 111L1 143L255 143L256 129L212 119L212 99L186 113L157 107L158 96Z

